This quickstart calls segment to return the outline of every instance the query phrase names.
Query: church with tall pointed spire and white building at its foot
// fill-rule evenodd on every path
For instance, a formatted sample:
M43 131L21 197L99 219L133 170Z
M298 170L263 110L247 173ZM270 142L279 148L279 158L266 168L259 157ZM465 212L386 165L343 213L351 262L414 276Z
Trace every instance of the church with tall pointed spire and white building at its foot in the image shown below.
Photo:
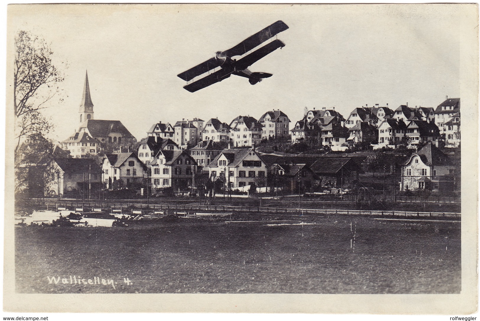
M92 97L85 73L84 91L79 110L78 130L61 142L62 149L69 150L73 158L85 158L100 152L122 152L133 150L137 139L119 120L94 118Z

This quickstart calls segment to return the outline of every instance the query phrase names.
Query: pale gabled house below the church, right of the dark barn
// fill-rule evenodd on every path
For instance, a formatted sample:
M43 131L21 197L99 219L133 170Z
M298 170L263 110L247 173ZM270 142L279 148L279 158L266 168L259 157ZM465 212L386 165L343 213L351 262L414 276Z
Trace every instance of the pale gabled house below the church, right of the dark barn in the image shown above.
M147 167L136 153L105 154L102 159L102 182L108 189L131 187L143 183L146 170Z

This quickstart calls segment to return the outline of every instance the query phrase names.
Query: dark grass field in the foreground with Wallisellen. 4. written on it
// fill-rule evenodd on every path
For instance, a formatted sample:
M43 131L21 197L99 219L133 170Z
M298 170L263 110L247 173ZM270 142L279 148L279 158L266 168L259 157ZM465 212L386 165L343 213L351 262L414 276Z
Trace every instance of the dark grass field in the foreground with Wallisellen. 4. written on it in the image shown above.
M312 224L267 226L180 218L129 228L16 228L16 289L21 293L460 292L459 223L281 219ZM80 277L84 282L70 284L73 275L73 281ZM48 277L60 280L50 284ZM97 280L94 277L100 283L105 279L107 285L88 284L88 279Z

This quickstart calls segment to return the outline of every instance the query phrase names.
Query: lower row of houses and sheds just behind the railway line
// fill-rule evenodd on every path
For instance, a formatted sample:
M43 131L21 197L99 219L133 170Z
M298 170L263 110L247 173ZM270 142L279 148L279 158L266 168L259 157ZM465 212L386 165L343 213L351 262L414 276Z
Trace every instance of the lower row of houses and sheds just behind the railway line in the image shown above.
M94 159L55 157L52 165L59 174L49 183L50 195L76 191L79 196L87 190L88 194L95 194L103 187L185 190L194 185L199 173L196 160L180 149L160 149L149 165L134 152L104 154L100 164ZM303 191L350 188L352 177L362 172L352 157L286 157L261 154L253 148L222 149L205 169L210 180L228 190L281 185L290 192L298 191L299 187ZM455 186L455 169L443 152L428 143L402 165L398 188L451 191Z

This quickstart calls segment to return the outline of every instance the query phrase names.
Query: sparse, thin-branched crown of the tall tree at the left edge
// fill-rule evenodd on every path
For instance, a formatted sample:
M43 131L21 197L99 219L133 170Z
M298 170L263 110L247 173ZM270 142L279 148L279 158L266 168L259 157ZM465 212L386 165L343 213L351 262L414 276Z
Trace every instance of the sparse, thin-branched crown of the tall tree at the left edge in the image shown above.
M63 75L52 62L53 51L44 39L26 31L15 37L13 103L17 152L22 139L35 134L45 136L52 128L40 109L58 95ZM61 98L59 97L60 101Z

